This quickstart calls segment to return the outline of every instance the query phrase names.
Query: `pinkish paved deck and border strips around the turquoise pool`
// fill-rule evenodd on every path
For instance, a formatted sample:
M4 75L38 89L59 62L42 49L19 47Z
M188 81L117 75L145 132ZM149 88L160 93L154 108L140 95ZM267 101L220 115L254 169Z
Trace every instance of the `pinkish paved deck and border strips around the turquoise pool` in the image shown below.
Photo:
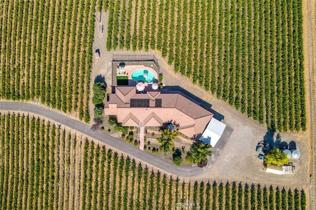
M117 85L117 76L128 76L128 86L134 86L137 84L137 81L133 81L132 78L131 78L131 75L132 73L135 71L135 70L150 70L154 73L155 75L155 80L154 82L158 82L158 75L159 75L159 72L158 72L158 69L157 69L157 66L154 62L152 61L142 61L142 62L131 62L131 61L127 61L127 62L124 62L125 63L125 67L124 67L124 70L125 70L125 74L124 73L118 73L118 66L119 66L119 63L120 62L112 62L112 86L116 86ZM157 79L157 80L156 80ZM148 86L148 84L152 84L153 82L151 83L147 83L145 82L145 86Z

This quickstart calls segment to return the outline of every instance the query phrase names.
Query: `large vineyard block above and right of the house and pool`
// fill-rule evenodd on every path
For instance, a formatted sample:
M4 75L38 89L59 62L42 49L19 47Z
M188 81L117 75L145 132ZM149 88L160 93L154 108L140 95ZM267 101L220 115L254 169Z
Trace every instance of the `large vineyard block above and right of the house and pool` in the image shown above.
M157 49L248 117L306 130L301 0L106 0L104 8L108 50Z

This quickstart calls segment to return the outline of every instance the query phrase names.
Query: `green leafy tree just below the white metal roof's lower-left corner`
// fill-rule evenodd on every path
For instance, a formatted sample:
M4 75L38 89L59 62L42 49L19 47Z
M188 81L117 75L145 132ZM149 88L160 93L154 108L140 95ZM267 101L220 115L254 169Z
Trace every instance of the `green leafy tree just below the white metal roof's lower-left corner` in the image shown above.
M207 163L207 156L212 154L212 152L208 150L211 147L211 144L204 143L203 141L195 142L192 144L190 153L186 159L191 159L192 163L204 167L206 166L205 163Z

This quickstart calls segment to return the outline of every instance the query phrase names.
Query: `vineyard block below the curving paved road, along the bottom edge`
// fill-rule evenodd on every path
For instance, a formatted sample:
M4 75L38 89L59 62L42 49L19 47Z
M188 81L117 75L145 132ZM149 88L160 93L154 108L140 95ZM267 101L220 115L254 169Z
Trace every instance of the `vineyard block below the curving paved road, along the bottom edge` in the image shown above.
M0 114L0 189L1 210L164 210L181 209L180 203L207 210L306 207L303 190L186 183L50 122L14 113Z

